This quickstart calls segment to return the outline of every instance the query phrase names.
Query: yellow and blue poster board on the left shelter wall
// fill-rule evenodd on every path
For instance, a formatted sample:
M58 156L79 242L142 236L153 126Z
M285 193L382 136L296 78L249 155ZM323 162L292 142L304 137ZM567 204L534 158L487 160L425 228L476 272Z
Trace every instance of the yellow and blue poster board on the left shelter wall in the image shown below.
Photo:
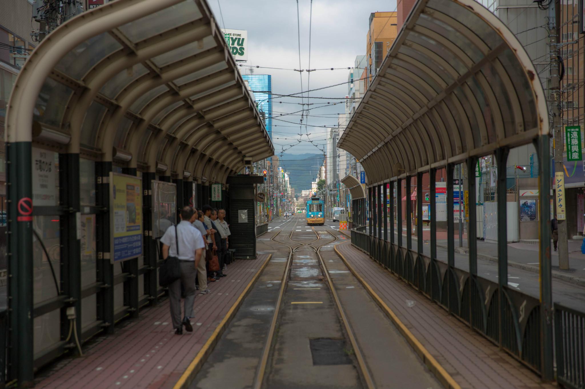
M142 180L110 173L112 263L142 255Z

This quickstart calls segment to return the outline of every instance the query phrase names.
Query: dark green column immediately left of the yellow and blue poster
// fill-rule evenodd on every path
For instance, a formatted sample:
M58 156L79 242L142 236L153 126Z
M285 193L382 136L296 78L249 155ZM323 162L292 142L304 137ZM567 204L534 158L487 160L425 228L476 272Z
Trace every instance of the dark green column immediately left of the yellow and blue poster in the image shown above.
M95 163L95 202L102 212L95 215L98 260L97 279L102 283L102 290L97 296L98 320L106 334L113 334L113 265L110 263L110 215L109 215L109 174L112 162ZM113 255L113 254L112 254Z

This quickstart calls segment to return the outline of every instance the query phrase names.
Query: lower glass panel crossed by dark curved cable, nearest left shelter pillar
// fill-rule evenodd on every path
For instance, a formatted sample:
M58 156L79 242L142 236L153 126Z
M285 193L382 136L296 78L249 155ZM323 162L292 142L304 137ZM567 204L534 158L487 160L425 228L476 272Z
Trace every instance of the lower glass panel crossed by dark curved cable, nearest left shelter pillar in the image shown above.
M33 229L36 232L33 234L33 302L37 304L59 295L57 290L61 282L59 216L33 216ZM44 248L37 234L42 239Z

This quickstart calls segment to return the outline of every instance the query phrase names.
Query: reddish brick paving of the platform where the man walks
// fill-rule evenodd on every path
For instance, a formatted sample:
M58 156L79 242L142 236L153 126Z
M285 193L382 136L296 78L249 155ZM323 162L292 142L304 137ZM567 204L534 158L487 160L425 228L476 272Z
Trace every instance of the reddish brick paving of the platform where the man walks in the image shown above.
M140 311L139 318L123 321L115 334L90 341L82 358L64 358L42 371L35 387L172 388L268 257L237 260L228 266L228 276L210 282L212 293L195 298L193 332L174 334L163 299Z

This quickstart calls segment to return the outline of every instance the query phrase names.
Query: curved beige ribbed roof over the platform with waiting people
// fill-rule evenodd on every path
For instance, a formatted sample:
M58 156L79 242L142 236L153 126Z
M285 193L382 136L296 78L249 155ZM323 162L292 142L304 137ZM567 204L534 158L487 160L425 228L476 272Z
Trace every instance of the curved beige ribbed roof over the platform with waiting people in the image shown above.
M6 140L38 141L33 124L69 153L219 182L274 154L205 0L116 0L62 24L20 71Z

